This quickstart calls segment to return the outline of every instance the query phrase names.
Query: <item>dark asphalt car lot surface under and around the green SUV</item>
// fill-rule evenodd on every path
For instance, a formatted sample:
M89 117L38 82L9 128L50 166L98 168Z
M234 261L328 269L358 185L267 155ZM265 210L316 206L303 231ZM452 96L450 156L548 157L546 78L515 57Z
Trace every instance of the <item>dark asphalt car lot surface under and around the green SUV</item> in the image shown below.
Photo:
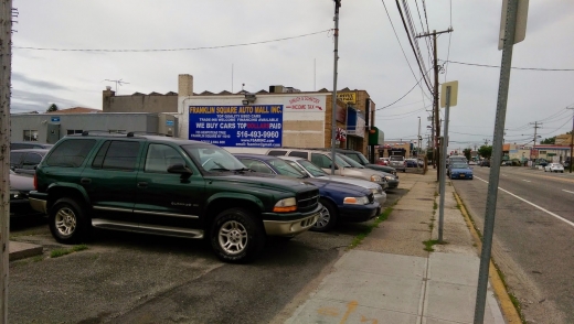
M406 190L387 193L392 205ZM370 223L272 240L249 264L221 262L203 241L96 230L59 258L39 218L13 219L10 239L44 255L10 262L10 323L284 323Z

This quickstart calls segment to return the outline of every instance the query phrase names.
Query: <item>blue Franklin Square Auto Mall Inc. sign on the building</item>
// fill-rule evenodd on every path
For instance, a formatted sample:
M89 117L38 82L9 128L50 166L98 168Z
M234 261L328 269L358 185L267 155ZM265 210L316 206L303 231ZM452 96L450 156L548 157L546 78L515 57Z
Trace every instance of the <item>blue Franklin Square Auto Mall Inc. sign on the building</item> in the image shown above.
M283 105L190 106L189 139L220 147L280 148Z

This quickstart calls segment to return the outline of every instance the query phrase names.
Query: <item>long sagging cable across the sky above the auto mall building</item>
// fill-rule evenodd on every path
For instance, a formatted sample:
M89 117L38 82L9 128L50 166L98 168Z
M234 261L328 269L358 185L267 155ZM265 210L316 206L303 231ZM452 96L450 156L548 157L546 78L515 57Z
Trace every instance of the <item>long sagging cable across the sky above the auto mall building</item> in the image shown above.
M28 47L28 46L12 46L12 48L18 50L34 50L34 51L56 51L56 52L113 52L113 53L134 53L134 52L181 52L181 51L200 51L200 50L216 50L216 48L226 48L226 47L240 47L240 46L248 46L248 45L258 45L274 42L288 41L294 39L300 39L311 35L317 35L326 32L330 32L332 29L323 30L319 32L283 37L269 41L259 41L252 43L240 43L240 44L231 44L231 45L219 45L219 46L202 46L202 47L184 47L184 48L149 48L149 50L102 50L102 48L47 48L47 47Z

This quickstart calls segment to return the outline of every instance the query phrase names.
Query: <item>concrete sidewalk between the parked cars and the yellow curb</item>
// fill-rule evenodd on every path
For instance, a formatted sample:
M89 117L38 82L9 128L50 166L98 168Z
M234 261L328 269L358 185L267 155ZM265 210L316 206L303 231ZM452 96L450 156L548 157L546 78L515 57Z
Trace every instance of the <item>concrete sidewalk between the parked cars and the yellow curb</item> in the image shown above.
M410 192L389 219L334 263L286 323L474 322L479 250L449 180L443 231L447 244L432 246L432 252L423 241L438 237L436 170L401 174L401 187ZM490 285L485 323L506 323Z

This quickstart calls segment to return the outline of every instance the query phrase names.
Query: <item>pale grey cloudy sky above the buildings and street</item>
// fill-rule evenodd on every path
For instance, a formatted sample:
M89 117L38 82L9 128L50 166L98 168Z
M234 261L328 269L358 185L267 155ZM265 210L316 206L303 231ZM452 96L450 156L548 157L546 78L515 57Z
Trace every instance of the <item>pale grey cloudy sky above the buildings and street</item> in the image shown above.
M501 1L398 2L415 33L454 29L437 40L439 82L459 83L450 147L491 143ZM51 104L102 109L106 86L119 95L177 91L179 74L193 75L195 93L333 86L332 0L13 0L13 7L12 114ZM541 139L572 128L572 17L574 1L530 0L512 66L532 69L512 69L507 142L532 143L536 121ZM376 108L404 97L376 111L386 140L415 139L419 118L428 133L431 93L415 86L421 72L396 2L342 0L339 28L338 89L364 89ZM426 40L417 45L431 69Z

